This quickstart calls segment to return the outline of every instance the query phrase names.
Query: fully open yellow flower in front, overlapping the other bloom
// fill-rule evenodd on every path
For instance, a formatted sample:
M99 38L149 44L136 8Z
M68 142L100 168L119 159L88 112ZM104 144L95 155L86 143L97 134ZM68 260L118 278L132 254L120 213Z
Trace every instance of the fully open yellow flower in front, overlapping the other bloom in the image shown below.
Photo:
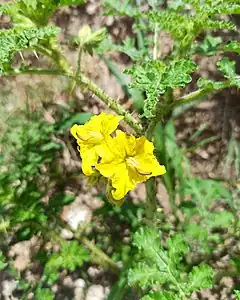
M102 159L96 169L111 179L115 200L121 200L138 183L166 173L165 167L153 154L153 143L144 136L135 138L117 130L116 137L110 139L107 145L108 148L98 149Z

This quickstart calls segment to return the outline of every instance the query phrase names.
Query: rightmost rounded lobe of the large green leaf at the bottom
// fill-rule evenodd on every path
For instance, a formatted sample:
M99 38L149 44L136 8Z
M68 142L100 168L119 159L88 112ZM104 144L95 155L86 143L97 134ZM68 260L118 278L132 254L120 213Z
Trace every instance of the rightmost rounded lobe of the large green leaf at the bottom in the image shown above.
M200 265L193 267L192 272L189 274L189 285L187 290L189 293L207 289L213 285L214 272L208 265Z

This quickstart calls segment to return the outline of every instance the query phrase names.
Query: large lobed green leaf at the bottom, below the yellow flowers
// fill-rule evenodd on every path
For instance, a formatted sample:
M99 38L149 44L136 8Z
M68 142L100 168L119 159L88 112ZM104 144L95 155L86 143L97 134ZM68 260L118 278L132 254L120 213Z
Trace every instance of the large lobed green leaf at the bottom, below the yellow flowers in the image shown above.
M159 234L150 228L141 228L134 235L134 245L139 250L141 262L129 271L129 284L137 284L143 289L155 286L155 289L158 287L162 291L169 286L176 295L174 299L190 296L194 291L212 286L213 270L208 265L196 266L183 276L182 260L189 249L181 235L167 239L166 244L167 250L161 245ZM144 299L152 299L153 295ZM165 295L159 293L153 299L168 299L170 295L166 290Z

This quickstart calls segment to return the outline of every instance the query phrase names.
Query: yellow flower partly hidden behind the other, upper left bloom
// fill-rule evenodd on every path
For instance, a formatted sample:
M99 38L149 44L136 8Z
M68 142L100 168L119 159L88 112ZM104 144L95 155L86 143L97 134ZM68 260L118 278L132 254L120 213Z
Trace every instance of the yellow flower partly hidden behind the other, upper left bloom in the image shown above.
M97 149L104 148L107 141L111 139L110 134L118 127L123 117L101 113L93 116L84 125L73 125L71 133L80 146L82 158L82 170L87 176L93 174L93 169L98 161Z

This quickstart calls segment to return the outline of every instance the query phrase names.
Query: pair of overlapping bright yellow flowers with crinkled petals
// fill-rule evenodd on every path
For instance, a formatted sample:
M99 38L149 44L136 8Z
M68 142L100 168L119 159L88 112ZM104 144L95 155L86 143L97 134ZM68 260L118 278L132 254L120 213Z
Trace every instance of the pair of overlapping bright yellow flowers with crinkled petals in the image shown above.
M153 143L116 130L123 117L101 113L85 125L73 125L72 135L79 145L82 170L87 176L94 169L111 182L112 196L121 201L140 182L166 172L153 154ZM111 136L116 130L114 137Z

